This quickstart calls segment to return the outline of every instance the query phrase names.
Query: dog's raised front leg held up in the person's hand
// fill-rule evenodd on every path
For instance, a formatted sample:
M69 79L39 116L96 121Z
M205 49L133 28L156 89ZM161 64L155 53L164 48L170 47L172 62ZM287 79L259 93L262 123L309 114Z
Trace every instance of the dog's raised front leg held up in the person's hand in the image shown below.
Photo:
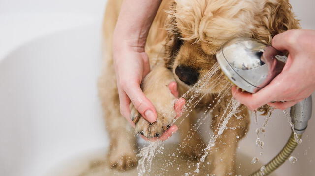
M163 64L155 66L142 82L142 90L153 103L158 113L154 123L146 121L130 104L131 119L136 123L136 132L147 138L159 137L173 123L176 117L174 111L175 96L169 90L169 83L175 81L173 73Z

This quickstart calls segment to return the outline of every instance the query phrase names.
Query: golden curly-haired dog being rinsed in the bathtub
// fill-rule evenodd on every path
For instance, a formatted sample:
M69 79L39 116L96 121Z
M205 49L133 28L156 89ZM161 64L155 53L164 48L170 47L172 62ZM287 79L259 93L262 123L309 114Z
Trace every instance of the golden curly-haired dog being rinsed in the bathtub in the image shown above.
M120 114L112 59L112 35L121 3L122 0L108 0L103 26L106 56L98 82L110 136L109 161L111 167L118 170L128 170L137 165L135 134L141 133L147 138L159 136L173 122L175 97L166 86L171 81L177 82L178 91L183 95L216 64L216 52L226 41L235 37L251 37L271 44L276 34L300 28L288 0L163 0L146 42L151 71L141 85L146 97L155 106L158 119L150 124L140 117L135 121L134 133ZM213 88L208 88L209 84L202 90L206 96L179 126L180 144L185 146L181 153L189 158L200 158L205 148L200 134L189 133L189 130L197 118L196 114L227 88L227 80L220 75L221 71L218 71L212 76L211 79L217 78L218 83ZM230 94L225 94L213 109L213 120L209 125L214 134L218 133L230 98ZM264 107L266 112L268 107ZM141 116L132 103L130 111L133 112L130 117L133 120ZM243 105L235 116L242 118L230 119L228 128L207 157L215 166L211 174L216 176L235 175L236 148L250 122L248 109Z

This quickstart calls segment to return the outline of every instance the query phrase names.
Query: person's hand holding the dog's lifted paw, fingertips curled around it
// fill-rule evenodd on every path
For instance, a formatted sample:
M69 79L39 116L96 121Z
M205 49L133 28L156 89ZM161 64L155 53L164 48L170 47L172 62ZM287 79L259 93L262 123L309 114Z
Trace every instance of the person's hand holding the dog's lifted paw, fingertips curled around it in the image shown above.
M120 111L121 114L130 122L130 124L134 126L134 123L130 119L129 109L130 102L132 101L133 105L141 114L141 116L147 121L153 123L157 119L157 112L153 104L149 99L146 98L140 88L142 79L150 71L149 58L144 52L144 47L142 47L143 45L134 47L135 45L130 45L129 42L126 42L126 45L122 43L116 45L114 42L113 57L117 89L119 94ZM176 82L171 82L169 84L169 89L175 97L178 97ZM185 99L178 99L175 102L174 110L177 114L177 117L180 116L181 109L184 104ZM147 139L144 136L142 137L148 141L164 141L168 139L173 133L175 133L177 129L177 126L171 126L159 138Z

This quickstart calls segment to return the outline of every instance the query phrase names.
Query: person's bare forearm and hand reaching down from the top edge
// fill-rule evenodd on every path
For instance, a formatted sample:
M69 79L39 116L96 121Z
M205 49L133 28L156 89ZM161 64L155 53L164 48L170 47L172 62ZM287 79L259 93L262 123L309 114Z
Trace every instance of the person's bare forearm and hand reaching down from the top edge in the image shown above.
M144 96L140 83L150 71L144 47L160 3L160 0L124 0L114 29L113 60L120 112L129 122L132 122L130 101L147 121L153 123L157 119L157 112Z

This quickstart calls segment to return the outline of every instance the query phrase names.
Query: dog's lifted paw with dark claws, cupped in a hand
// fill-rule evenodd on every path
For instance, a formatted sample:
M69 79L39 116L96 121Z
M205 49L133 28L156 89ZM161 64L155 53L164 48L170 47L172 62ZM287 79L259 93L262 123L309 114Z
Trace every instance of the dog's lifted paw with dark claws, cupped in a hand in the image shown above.
M171 107L172 108L172 107ZM165 107L165 110L167 108ZM135 123L135 131L147 138L160 137L173 123L173 119L175 118L175 111L170 110L168 112L159 113L157 121L154 123L150 123L145 120L141 114L134 108L134 106L130 105L131 110L131 120Z

